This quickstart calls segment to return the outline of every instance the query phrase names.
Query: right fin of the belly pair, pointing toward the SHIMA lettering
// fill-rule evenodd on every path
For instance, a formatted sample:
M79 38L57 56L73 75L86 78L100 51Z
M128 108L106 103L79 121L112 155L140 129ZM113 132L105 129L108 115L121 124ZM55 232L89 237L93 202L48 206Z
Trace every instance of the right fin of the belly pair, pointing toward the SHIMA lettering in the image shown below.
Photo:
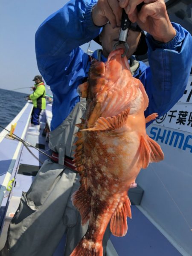
M153 139L148 137L148 135L147 135L147 141L148 141L149 146L151 147L151 163L159 162L159 161L163 160L164 154L163 154L163 151L162 151L160 145L156 141L154 141Z

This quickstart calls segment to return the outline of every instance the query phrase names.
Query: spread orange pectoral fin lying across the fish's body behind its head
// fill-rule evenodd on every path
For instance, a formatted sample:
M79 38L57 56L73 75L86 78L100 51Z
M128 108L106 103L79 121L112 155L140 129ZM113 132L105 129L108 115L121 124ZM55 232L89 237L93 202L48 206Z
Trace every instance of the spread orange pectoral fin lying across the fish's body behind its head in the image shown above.
M105 131L114 130L125 125L130 109L122 111L120 114L112 117L99 117L93 128L83 129L82 131Z

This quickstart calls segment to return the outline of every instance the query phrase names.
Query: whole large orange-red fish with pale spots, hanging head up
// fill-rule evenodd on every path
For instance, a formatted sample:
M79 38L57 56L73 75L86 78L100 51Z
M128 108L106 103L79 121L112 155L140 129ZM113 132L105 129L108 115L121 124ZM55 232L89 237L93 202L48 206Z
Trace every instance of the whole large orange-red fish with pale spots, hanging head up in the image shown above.
M87 233L71 256L102 256L102 239L110 222L115 236L125 236L131 218L128 189L135 186L141 168L163 160L160 146L148 137L145 120L148 96L140 80L130 72L123 49L117 49L103 63L94 60L88 82L81 84L87 98L86 118L74 154L81 186L73 196Z

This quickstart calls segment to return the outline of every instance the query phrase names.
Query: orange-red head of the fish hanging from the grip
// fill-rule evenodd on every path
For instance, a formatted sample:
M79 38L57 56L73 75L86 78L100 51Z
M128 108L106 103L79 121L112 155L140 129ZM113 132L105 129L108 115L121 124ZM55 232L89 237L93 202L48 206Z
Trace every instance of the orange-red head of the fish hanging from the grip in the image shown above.
M87 93L86 128L92 128L99 117L116 116L131 107L139 96L138 79L133 78L124 49L112 51L104 63L94 60L90 67ZM133 108L140 109L137 100Z

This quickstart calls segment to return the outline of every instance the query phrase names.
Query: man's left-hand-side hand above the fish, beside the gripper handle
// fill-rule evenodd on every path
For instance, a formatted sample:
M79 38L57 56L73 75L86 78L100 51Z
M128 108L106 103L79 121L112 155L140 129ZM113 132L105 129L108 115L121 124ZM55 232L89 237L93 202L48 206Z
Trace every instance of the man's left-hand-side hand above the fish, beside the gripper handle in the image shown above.
M121 16L119 0L98 0L92 9L92 19L96 26L104 26L109 21L114 29L121 26Z

